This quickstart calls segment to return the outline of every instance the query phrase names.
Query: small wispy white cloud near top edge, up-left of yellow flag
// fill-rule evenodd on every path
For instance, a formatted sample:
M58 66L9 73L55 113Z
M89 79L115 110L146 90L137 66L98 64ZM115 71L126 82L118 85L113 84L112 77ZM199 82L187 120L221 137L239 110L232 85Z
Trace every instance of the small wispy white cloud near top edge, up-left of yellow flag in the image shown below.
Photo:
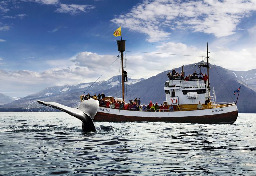
M55 11L57 13L70 13L71 15L79 14L80 12L88 12L94 9L92 5L77 5L77 4L60 4L60 7Z

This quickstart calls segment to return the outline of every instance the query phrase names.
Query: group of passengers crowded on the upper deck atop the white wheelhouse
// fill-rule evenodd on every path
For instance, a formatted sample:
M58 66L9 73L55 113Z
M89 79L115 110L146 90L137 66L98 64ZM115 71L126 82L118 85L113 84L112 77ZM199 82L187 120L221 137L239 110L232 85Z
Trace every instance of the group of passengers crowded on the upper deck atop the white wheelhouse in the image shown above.
M172 70L172 73L171 72L168 72L166 74L168 76L169 79L181 79L181 80L185 80L185 81L188 81L188 80L204 80L204 81L207 81L208 79L208 76L207 74L203 74L201 73L201 75L203 77L201 77L200 73L196 73L196 71L194 71L193 74L189 74L188 76L184 77L183 74L180 74L178 71L176 72L175 69ZM197 75L200 75L199 77Z

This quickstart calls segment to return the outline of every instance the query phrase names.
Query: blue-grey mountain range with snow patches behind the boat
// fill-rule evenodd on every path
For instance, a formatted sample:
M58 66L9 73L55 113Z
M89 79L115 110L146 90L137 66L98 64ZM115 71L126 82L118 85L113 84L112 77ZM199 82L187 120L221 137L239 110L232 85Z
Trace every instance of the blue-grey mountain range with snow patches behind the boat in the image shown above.
M202 61L201 61L202 62ZM184 66L185 76L192 74L194 70L197 73L197 65L199 63ZM237 95L232 95L240 84L241 87L239 100L237 102L239 113L256 113L256 86L253 85L255 70L249 71L232 71L220 66L210 65L210 86L214 87L217 102L231 102L236 101ZM176 71L181 72L181 67L175 68ZM125 100L140 98L141 103L148 104L149 101L158 104L165 101L164 83L168 79L166 74L168 71L152 76L146 80L132 80L126 82ZM201 69L202 73L206 73L206 68ZM242 77L243 78L242 78ZM37 104L36 100L54 101L60 104L76 107L80 101L79 95L84 92L90 94L105 93L106 96L122 97L121 85L118 80L120 76L114 76L107 81L95 83L81 83L75 86L53 86L48 87L40 92L29 95L27 97L16 100L12 103L1 105L0 111L54 111L55 109L49 107L42 107ZM91 86L91 87L90 87ZM119 86L119 87L117 87ZM90 87L89 91L88 88Z

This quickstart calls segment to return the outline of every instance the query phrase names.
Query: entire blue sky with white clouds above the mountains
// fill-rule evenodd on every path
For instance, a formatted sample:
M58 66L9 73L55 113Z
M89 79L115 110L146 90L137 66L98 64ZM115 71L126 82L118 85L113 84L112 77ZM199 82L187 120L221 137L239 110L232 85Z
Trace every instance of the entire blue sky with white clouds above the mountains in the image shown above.
M2 0L0 93L24 97L48 86L94 82L126 51L205 56L231 70L256 68L255 1ZM126 52L132 78L202 57ZM205 59L204 59L205 60ZM244 64L245 62L250 64ZM116 61L100 80L119 73Z

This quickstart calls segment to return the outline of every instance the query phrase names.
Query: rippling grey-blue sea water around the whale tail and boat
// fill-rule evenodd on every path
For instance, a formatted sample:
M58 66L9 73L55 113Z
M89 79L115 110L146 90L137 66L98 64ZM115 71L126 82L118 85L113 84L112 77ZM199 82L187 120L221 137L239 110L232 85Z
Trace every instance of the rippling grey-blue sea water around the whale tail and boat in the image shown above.
M256 114L235 124L95 122L0 112L0 175L256 175Z

